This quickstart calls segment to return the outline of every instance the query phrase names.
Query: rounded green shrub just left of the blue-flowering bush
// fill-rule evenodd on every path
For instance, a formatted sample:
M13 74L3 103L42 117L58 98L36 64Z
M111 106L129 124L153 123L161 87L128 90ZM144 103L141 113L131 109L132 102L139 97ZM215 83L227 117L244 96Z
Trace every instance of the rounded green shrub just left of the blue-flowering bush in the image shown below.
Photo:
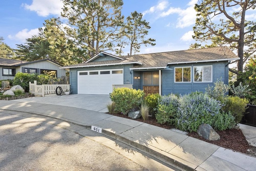
M174 123L177 109L171 103L169 105L159 104L156 112L156 120L158 123Z

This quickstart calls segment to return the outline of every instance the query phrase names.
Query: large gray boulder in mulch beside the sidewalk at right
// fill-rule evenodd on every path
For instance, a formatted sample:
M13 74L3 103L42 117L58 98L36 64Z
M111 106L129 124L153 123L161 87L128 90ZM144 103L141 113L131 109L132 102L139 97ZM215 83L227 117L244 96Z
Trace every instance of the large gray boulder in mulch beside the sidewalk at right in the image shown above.
M197 130L198 135L208 139L210 141L217 141L220 139L220 135L214 131L211 125L209 124L202 124L198 127Z

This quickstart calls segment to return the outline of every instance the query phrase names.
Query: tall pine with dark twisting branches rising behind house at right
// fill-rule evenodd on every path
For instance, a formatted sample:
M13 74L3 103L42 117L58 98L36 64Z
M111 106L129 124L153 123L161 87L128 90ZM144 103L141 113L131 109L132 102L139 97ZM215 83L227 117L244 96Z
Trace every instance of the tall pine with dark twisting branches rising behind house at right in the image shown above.
M256 22L244 18L255 7L255 0L202 0L194 7L197 18L193 38L200 42L210 40L212 47L230 45L232 50L238 51L237 69L243 72L244 62L254 54L256 46Z

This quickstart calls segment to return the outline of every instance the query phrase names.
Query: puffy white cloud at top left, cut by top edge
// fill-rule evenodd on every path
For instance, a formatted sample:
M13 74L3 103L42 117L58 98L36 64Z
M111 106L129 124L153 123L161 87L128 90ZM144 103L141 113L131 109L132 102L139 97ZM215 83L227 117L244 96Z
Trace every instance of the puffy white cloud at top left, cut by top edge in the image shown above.
M38 16L49 16L50 14L60 16L63 8L61 0L33 0L31 5L22 4L25 9L35 11Z

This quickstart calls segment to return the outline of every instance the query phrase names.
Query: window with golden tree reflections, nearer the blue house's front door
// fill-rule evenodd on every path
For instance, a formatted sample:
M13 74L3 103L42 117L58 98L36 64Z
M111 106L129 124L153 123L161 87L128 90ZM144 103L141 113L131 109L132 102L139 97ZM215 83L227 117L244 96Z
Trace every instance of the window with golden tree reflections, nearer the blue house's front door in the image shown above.
M191 82L191 67L176 67L175 82Z

